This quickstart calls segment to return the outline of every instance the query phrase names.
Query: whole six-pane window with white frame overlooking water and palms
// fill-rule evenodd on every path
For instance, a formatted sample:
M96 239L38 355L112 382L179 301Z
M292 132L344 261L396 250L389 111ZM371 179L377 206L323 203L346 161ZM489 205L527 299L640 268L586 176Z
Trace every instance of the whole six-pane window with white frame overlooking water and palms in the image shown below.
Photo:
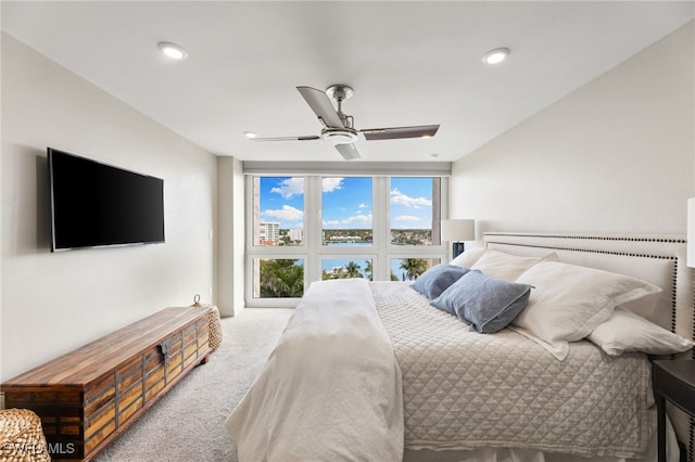
M446 177L247 178L248 306L294 306L312 281L413 281L447 256Z

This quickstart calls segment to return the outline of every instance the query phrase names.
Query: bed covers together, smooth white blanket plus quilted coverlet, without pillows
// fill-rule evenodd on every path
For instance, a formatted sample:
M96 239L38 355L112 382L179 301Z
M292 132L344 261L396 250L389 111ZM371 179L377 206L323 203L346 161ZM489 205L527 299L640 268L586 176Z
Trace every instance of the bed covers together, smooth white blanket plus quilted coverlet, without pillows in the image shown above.
M641 458L650 398L643 355L579 342L557 361L407 284L354 279L312 284L227 428L241 461L400 461L404 446Z

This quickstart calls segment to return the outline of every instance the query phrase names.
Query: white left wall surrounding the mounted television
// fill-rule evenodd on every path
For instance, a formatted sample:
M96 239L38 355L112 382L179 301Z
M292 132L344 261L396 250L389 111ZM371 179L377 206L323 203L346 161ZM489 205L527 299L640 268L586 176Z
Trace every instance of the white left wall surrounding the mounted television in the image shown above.
M163 178L166 243L51 254L47 146ZM1 161L1 380L212 301L216 158L7 35Z

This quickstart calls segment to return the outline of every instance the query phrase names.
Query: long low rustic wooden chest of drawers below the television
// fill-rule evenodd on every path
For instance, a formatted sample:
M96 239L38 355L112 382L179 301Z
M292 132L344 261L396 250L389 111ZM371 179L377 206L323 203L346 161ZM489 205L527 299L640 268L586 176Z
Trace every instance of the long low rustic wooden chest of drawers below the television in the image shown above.
M210 308L166 308L4 384L30 409L52 459L91 460L195 365L207 362Z

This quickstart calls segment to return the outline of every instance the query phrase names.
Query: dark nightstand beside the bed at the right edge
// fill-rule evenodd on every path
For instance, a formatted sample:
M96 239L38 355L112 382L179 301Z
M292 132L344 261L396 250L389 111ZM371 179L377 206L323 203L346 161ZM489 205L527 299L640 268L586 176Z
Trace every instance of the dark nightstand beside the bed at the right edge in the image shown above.
M652 382L659 425L659 462L666 462L666 400L695 416L695 361L654 361Z

